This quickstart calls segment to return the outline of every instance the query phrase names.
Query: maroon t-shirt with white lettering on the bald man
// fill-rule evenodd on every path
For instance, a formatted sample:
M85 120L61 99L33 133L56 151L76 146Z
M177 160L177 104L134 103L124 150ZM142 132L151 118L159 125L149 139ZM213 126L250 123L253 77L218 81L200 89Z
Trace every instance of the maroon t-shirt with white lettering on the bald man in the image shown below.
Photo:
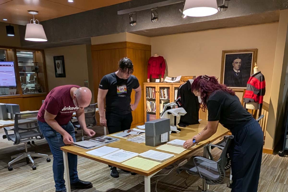
M57 115L55 120L59 125L69 123L73 113L79 109L79 107L74 105L70 94L70 90L73 87L80 88L78 85L63 85L52 89L46 96L38 112L37 119L45 122L44 114L46 110L52 115Z

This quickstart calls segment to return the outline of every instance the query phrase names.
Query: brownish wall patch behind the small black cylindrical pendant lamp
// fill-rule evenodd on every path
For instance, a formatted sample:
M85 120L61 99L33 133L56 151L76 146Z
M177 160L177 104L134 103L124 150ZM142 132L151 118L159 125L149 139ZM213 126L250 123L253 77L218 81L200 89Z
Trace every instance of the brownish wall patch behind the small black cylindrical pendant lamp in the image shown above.
M15 36L7 36L6 25L9 23L0 22L0 46L21 47L18 25L11 24L14 26Z

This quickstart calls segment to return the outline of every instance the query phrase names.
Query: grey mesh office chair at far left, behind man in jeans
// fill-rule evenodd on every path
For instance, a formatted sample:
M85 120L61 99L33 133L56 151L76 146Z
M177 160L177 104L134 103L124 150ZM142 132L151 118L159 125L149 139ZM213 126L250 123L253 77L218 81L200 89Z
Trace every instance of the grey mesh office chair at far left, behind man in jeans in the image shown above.
M27 142L33 142L34 140L40 140L44 138L38 126L37 114L38 112L15 113L14 126L4 127L5 135L3 135L3 139L7 138L9 141L13 141L14 145L19 145L20 143L25 144L25 153L11 156L11 159L15 159L8 163L9 171L13 170L11 164L24 158L26 158L27 164L29 164L29 160L32 162L33 170L36 170L36 166L32 157L46 157L47 162L51 161L46 154L32 153L27 151ZM14 131L14 133L9 134L8 131Z

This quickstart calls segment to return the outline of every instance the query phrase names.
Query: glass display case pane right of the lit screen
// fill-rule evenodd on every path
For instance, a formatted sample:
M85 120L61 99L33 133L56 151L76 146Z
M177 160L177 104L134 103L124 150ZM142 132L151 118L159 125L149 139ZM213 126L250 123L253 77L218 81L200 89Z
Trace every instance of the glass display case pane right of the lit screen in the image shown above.
M16 51L22 94L46 92L43 55L40 51Z

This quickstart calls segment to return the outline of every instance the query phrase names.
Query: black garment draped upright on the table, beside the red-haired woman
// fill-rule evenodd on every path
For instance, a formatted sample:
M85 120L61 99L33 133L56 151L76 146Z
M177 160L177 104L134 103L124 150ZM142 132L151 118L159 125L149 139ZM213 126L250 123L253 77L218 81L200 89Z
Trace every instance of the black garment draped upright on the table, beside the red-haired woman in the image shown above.
M178 107L183 107L187 112L185 115L180 117L180 122L178 123L179 126L186 127L188 125L199 124L200 104L198 97L191 92L190 81L187 81L180 86L177 92L176 103Z

